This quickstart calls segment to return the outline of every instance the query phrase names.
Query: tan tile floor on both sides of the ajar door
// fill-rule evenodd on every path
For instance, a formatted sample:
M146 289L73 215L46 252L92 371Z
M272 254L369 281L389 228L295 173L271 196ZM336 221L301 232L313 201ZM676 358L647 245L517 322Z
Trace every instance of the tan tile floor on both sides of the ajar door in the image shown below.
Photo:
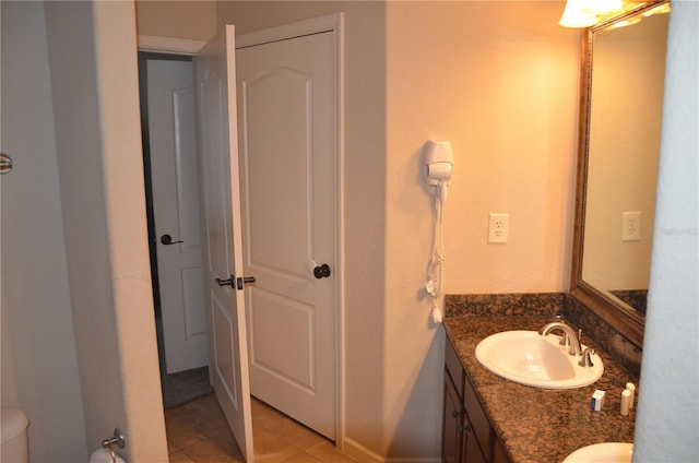
M244 462L213 394L165 411L170 463ZM256 462L350 463L325 438L252 399Z

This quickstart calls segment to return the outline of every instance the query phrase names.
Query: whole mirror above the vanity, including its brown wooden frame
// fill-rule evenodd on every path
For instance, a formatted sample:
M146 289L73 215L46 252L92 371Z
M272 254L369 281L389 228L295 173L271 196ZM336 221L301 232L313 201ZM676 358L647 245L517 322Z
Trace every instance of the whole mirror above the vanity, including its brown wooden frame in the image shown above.
M670 2L582 34L571 295L643 344Z

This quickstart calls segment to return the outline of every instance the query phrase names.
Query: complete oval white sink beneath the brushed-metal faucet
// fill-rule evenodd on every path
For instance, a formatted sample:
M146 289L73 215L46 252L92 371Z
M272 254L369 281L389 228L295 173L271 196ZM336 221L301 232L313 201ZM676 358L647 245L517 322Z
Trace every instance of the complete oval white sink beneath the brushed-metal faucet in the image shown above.
M574 389L595 382L604 372L599 355L591 367L559 345L560 336L536 331L503 331L481 341L476 358L488 370L510 381L543 389ZM583 345L582 349L587 347Z

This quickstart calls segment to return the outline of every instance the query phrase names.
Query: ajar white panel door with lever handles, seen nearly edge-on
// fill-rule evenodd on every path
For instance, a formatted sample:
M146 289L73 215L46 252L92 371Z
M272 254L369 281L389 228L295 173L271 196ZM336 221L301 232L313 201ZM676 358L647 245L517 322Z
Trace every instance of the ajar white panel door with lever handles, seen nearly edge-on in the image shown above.
M210 376L242 454L252 461L235 75L234 27L227 26L194 58L203 281Z

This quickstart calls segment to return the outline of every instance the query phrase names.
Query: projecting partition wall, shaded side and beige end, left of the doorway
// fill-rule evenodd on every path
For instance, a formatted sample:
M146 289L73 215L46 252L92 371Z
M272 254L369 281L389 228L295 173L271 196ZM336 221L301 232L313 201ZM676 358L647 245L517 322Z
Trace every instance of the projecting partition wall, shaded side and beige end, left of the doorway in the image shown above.
M162 462L132 7L47 2L46 27L87 448L120 427L127 460Z

